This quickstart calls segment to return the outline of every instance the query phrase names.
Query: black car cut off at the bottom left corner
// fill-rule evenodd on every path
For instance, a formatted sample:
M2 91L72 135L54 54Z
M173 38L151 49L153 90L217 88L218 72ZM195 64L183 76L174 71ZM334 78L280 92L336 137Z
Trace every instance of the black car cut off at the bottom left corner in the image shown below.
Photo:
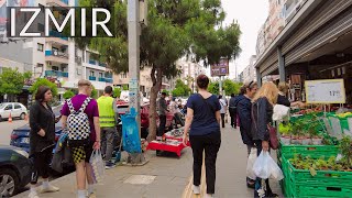
M0 197L11 197L26 186L31 182L32 168L25 151L0 145Z

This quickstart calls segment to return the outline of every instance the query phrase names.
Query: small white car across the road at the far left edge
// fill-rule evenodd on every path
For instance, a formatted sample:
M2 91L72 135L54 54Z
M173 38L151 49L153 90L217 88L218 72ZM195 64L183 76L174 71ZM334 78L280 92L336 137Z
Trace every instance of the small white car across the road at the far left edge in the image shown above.
M26 108L19 102L0 103L0 121L2 119L9 119L10 113L11 113L11 118L20 118L21 120L24 120L28 111L26 111Z

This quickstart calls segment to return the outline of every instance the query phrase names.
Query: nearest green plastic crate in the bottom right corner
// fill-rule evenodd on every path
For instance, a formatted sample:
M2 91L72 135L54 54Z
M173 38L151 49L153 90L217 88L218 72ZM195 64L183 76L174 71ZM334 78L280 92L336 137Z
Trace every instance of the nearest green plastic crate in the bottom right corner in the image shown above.
M285 156L282 156L284 189L286 197L352 197L352 173L296 169Z

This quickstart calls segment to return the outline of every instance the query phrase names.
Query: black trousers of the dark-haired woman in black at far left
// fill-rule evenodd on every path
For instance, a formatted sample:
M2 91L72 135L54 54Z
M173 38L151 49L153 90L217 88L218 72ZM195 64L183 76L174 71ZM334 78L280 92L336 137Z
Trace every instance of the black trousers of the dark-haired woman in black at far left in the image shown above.
M38 176L43 178L48 178L50 174L50 164L52 163L52 152L53 150L47 148L43 152L36 152L32 155L32 161L34 164L34 168L32 170L31 184L35 185L37 183Z

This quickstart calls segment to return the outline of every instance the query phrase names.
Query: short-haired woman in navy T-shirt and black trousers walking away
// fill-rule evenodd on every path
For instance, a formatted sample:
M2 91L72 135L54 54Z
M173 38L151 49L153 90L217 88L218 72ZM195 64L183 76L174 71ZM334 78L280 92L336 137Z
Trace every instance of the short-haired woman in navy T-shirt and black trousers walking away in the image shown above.
M220 103L215 95L207 91L209 78L197 77L199 94L191 95L187 101L187 116L184 131L184 144L189 136L194 155L194 194L200 194L200 177L204 152L206 153L206 197L213 197L216 186L216 163L221 144ZM189 133L188 133L189 131Z

